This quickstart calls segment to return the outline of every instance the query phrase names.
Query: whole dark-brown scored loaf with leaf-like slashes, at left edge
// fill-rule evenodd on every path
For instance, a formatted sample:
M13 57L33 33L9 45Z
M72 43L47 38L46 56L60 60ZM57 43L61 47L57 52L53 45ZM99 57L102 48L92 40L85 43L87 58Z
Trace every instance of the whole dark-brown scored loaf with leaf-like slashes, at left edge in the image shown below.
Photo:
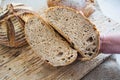
M0 44L9 47L21 47L27 44L24 26L34 13L24 5L8 4L0 12Z

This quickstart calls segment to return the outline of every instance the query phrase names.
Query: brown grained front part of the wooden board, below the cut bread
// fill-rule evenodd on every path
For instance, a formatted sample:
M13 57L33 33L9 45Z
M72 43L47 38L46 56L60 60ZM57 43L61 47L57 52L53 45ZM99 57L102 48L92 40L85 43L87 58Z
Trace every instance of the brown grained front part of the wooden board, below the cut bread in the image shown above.
M8 50L5 54L14 54L6 55L5 62L1 63L1 80L77 80L109 56L101 54L92 61L76 61L69 66L52 67L44 63L29 46Z

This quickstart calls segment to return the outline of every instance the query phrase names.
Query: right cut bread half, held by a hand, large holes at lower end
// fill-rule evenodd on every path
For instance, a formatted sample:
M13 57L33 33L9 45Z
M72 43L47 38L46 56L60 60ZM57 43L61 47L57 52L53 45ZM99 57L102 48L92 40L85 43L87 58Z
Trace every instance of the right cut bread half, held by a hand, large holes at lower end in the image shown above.
M82 55L90 60L99 52L99 32L94 24L79 12L67 7L52 7L46 21Z

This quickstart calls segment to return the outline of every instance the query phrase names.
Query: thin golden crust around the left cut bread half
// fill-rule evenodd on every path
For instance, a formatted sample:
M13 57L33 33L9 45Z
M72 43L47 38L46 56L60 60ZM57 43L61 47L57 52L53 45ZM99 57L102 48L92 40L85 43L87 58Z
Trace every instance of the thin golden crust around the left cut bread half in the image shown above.
M42 24L44 24L46 27L49 27L49 29L52 29L52 27L49 25L49 24L47 24L44 20L43 20L43 18L41 18L40 16L34 16L33 18L37 18L37 19L39 19L40 21L41 21L41 23ZM32 18L31 18L32 19ZM30 41L30 38L29 38L29 36L28 36L28 32L26 31L27 30L27 24L30 22L30 20L26 23L26 28L25 28L25 35L26 35L26 40L27 40L27 42L29 43L29 45L31 46L31 48L34 50L34 52L35 53L37 53L44 61L47 61L50 65L52 65L52 66L66 66L66 65L69 65L69 64L71 64L72 62L74 62L76 59L77 59L77 51L75 51L75 50L73 50L70 46L69 46L69 44L68 44L68 42L67 41L65 41L64 43L66 44L66 46L63 46L64 48L66 47L66 48L68 48L67 49L67 51L69 51L70 50L70 53L72 53L72 55L74 55L73 56L73 59L71 59L71 61L66 61L65 63L62 63L62 64L56 64L56 63L54 63L55 62L55 60L54 60L54 62L52 62L50 59L49 59L49 57L50 56L46 56L46 57L48 57L48 59L46 58L46 57L44 57L40 52L38 53L37 51L36 51L36 49L34 48L34 46L32 46L32 44L31 44L31 41ZM52 29L53 30L53 29ZM53 30L54 31L54 30ZM33 32L34 33L34 32ZM47 32L46 32L47 33ZM52 32L51 32L52 33ZM58 33L57 32L55 32L55 35L58 35ZM61 44L64 44L64 43L61 43L61 36L59 36L58 35L58 37L60 37L59 38L59 41L60 41L60 43L59 43L59 45L61 45ZM54 36L53 36L53 38L54 38ZM57 38L57 37L56 37ZM63 41L62 41L63 42ZM33 43L34 44L34 43ZM55 44L53 44L53 46L54 46ZM58 51L59 51L59 49L58 49ZM63 50L64 51L64 50ZM65 53L67 53L67 51L65 52ZM71 52L72 51L72 52ZM49 51L49 53L51 52L51 54L52 54L52 50L51 51ZM47 53L46 53L47 54ZM56 54L56 53L55 53ZM62 53L61 53L62 54ZM69 56L69 55L66 55L66 59L67 59L67 56ZM53 56L53 57L55 57L55 56ZM56 62L57 62L57 60L56 60Z

